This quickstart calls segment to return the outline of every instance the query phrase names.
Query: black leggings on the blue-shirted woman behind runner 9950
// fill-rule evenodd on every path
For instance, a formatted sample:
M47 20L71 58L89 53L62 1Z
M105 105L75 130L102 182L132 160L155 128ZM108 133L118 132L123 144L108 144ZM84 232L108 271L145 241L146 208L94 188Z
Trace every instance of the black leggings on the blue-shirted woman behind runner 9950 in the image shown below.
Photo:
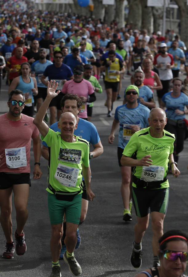
M185 140L186 135L186 125L183 123L183 127L173 126L168 123L165 126L165 130L169 131L172 134L175 134L175 141L174 141L174 161L177 162L177 155L183 150L183 143Z

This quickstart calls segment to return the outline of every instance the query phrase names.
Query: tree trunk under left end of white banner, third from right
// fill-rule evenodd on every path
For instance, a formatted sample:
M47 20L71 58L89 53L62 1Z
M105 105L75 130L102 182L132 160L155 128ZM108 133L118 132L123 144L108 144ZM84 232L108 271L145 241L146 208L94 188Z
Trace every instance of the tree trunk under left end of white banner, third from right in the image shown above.
M141 29L146 29L148 35L151 34L151 18L152 18L152 9L147 6L147 0L141 1L142 6L142 25Z

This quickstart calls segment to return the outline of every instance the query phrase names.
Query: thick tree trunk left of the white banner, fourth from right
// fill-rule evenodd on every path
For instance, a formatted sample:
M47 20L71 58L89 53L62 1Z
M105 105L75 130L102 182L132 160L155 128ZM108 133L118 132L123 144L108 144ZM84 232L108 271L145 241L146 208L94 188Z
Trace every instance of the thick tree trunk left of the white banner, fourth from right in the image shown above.
M127 23L130 24L133 29L140 29L142 18L142 6L140 4L140 0L127 0L127 2L129 4Z

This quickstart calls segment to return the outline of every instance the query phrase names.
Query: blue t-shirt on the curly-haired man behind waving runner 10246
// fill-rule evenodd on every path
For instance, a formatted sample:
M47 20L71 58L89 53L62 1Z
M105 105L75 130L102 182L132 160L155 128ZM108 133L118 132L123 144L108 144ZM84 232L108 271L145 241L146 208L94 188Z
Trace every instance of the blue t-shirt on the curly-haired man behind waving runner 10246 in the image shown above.
M55 132L61 132L61 130L58 128L58 122L52 124L50 129L54 130ZM79 118L78 127L76 130L74 130L74 134L81 139L86 139L92 145L97 144L100 140L98 131L94 124L82 118ZM44 141L42 142L42 145L48 147Z

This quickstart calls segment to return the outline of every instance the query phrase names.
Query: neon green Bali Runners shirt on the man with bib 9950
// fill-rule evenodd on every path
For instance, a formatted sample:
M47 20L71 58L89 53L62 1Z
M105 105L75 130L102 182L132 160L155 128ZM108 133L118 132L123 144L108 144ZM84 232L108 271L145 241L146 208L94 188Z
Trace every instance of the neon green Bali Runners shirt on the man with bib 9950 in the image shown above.
M150 135L150 127L135 132L126 147L124 148L123 155L141 160L146 155L151 155L152 166L164 167L164 177L168 173L169 155L174 151L174 134L166 130L162 138L154 138ZM151 166L151 167L152 167ZM133 175L141 178L143 167L134 167ZM133 187L136 185L133 183ZM169 187L169 182L166 180L161 184L161 188Z

